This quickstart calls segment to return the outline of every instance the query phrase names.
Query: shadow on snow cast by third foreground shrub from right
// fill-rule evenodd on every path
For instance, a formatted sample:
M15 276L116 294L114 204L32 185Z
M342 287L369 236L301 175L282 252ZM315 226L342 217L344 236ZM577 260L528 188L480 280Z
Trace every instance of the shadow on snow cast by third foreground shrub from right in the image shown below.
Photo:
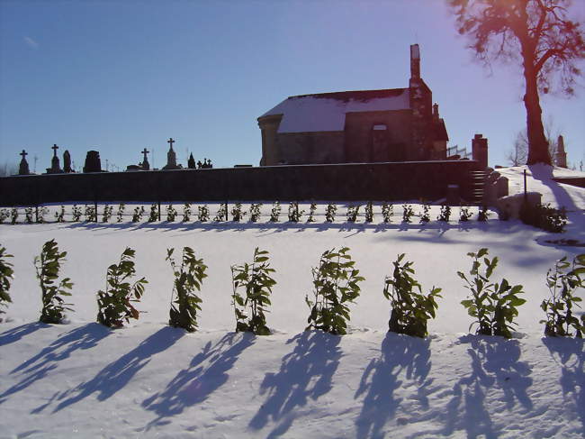
M365 394L362 411L356 420L357 437L383 438L383 426L391 419L401 404L394 391L400 389L399 376L418 383L419 405L428 408L428 380L431 368L430 339L420 339L400 334L386 334L380 357L374 358L365 368L354 398ZM367 393L366 393L367 392Z

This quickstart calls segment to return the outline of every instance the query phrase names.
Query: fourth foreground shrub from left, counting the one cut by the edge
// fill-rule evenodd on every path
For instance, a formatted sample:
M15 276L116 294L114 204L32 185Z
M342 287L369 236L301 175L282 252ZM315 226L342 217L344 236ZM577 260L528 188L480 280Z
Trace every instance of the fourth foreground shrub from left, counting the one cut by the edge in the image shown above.
M180 266L176 265L173 252L175 249L166 249L165 261L169 261L175 275L168 325L192 333L197 329L197 312L201 311L199 304L202 303L196 291L201 291L207 266L202 259L195 258L191 247L183 248Z

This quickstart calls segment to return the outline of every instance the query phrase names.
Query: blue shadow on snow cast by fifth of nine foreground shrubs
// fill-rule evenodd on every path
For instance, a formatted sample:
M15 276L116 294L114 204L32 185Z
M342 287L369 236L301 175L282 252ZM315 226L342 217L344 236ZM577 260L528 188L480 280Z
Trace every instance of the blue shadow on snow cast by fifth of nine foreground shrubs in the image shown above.
M218 343L207 343L203 351L193 357L188 369L179 371L162 392L142 401L142 407L152 410L157 418L147 429L165 425L164 418L183 413L184 409L199 404L229 379L228 371L238 356L254 344L256 336L250 333L229 333Z

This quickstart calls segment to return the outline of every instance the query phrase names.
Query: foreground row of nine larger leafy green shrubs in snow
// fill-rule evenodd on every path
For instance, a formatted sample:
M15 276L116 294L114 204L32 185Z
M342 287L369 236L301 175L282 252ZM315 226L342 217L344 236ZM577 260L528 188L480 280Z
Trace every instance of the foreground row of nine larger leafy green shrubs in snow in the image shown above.
M175 249L166 251L166 261L174 273L169 325L193 332L197 328L197 314L201 311L202 298L198 292L207 277L207 266L190 247L184 247L180 261L175 261L174 252ZM500 282L491 280L499 260L497 257L490 259L488 249L467 254L472 259L472 269L467 274L457 271L457 275L470 291L470 295L461 302L473 317L470 330L477 325L476 334L510 338L516 325L514 320L518 316L518 306L526 302L520 297L524 294L522 286L512 286L507 279ZM72 310L64 297L71 296L69 290L73 283L69 278L58 280L66 255L67 252L59 252L55 240L50 240L44 243L40 255L34 258L42 297L41 322L61 323L65 311ZM108 267L106 287L97 292L97 321L103 325L121 327L130 318L139 318L139 310L132 302L139 302L148 281L145 278L133 280L136 274L134 255L132 249L126 248L120 261ZM12 257L0 246L0 306L11 302L8 291L14 270L8 259ZM415 278L413 262L406 261L404 253L392 262L392 266L392 274L386 276L383 287L383 296L390 300L392 308L388 329L394 333L424 337L428 334L428 320L436 316L441 288L430 288L425 294ZM251 262L231 267L231 299L236 331L270 334L266 314L271 305L272 288L276 285L274 272L270 268L268 252L258 248ZM311 297L305 297L310 308L306 330L347 334L349 305L356 302L360 295L359 283L365 280L360 276L356 262L352 261L349 248L323 252L319 265L312 269L312 277ZM585 316L575 316L574 307L580 307L581 297L577 297L575 291L583 288L584 282L585 253L576 256L572 262L564 257L548 270L546 284L551 296L541 304L545 319L540 321L545 324L546 335L582 338ZM0 308L0 314L3 313Z

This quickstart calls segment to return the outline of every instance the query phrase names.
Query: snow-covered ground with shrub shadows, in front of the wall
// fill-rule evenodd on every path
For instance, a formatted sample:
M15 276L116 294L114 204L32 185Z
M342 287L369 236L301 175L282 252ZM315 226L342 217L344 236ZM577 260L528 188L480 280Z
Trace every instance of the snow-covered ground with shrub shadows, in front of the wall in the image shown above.
M522 190L521 169L499 170L512 191ZM266 204L257 224L0 225L15 271L14 303L0 324L0 437L581 438L585 346L544 338L539 306L548 294L546 270L585 252L555 243L585 242L585 189L538 172L528 184L544 202L567 206L566 233L495 214L485 224L475 215L459 224L458 207L448 224L434 219L439 206L430 224L418 217L401 224L400 204L392 224L382 223L379 206L374 224L364 224L363 215L347 223L345 206L333 224L324 222L324 206L316 223L290 224L281 215L272 224ZM216 210L211 206L212 215ZM37 323L32 259L52 238L67 251L62 273L75 283L67 325ZM166 249L184 245L209 266L193 334L166 325L173 280ZM126 246L136 250L138 274L149 283L139 320L112 331L94 323L95 292ZM350 334L304 332L311 267L340 246L351 249L365 277ZM255 247L270 252L278 282L268 315L274 334L266 337L233 332L229 267L249 261ZM481 247L500 258L496 279L526 291L511 340L468 334L471 317L460 305L467 290L456 271L469 270L466 253ZM443 288L426 339L386 333L383 279L402 252L423 288Z

